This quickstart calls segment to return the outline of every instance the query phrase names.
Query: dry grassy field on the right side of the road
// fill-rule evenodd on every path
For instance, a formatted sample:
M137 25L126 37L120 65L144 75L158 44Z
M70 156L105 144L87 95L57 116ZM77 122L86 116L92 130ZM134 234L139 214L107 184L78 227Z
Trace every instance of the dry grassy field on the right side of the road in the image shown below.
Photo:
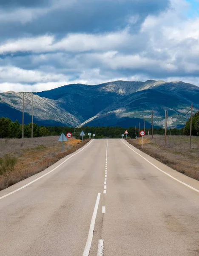
M176 171L199 180L199 137L192 137L191 151L187 136L168 136L166 145L164 139L162 135L154 135L153 140L145 136L143 149L141 138L128 142Z

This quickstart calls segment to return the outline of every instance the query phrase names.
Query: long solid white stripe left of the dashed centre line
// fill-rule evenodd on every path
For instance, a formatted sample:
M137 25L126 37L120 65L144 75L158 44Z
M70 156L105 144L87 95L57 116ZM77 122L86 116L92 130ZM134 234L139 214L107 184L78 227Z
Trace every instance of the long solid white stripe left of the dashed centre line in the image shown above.
M96 203L95 203L93 216L91 218L91 225L90 225L90 229L89 229L89 232L88 232L88 239L86 241L86 245L85 245L85 249L84 249L84 252L83 252L83 256L88 256L89 252L90 252L90 249L91 249L91 243L92 243L92 240L93 240L93 232L94 232L94 227L95 227L95 219L96 219L96 216L97 216L97 209L98 209L98 206L99 206L100 195L101 195L101 193L98 193L98 195L97 195L97 200L96 200Z

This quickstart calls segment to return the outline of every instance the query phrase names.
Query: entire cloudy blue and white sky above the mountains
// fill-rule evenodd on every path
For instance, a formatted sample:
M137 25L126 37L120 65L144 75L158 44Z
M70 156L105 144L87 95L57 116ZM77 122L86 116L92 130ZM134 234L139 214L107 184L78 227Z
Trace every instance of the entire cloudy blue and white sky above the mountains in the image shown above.
M0 0L0 92L148 79L199 86L199 0Z

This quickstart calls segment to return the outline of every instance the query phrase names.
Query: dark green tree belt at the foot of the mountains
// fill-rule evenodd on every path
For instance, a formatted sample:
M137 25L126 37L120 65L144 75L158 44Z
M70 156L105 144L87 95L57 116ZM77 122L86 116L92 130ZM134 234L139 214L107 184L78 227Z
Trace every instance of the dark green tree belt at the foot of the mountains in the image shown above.
M199 116L198 116L199 117ZM195 118L195 117L194 117ZM194 119L194 134L197 135L197 125L198 119ZM190 121L189 121L190 125ZM80 132L84 131L86 136L88 137L88 133L95 134L95 138L121 138L121 134L125 132L125 129L122 127L82 127L82 128L73 128L73 127L44 127L39 126L37 124L33 124L33 137L43 137L43 136L56 136L60 135L62 132L66 134L67 132L71 132L74 137L80 138ZM138 137L138 128L130 127L128 130L128 137L135 138ZM140 128L140 131L143 128ZM145 129L146 134L151 134L151 129ZM182 135L188 134L188 123L185 125L184 129L168 129L168 134L171 135ZM154 134L165 134L165 129L162 128L154 128ZM22 125L16 121L12 122L9 118L0 118L0 138L21 138L22 137ZM24 137L31 137L31 123L28 125L24 125Z

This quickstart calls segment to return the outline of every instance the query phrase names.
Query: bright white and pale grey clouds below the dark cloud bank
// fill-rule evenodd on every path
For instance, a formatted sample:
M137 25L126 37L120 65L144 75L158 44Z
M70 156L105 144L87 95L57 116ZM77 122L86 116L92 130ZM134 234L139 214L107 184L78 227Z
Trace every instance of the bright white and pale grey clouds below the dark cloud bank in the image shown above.
M64 2L63 8L68 8ZM54 2L53 8L60 6ZM68 33L63 38L45 34L4 41L0 54L5 55L3 61L9 61L0 67L0 90L18 90L14 84L19 90L48 90L70 83L99 84L117 79L173 79L199 85L199 18L186 16L188 8L185 0L173 0L170 9L148 15L136 31L139 14L127 16L128 26L113 32ZM40 15L40 9L35 14L30 11L30 17L28 12L23 15L23 9L17 12L19 16L21 12L22 23ZM10 14L11 20L17 15ZM3 15L0 12L0 21L7 19ZM20 67L15 60L18 52L28 53L30 63Z

